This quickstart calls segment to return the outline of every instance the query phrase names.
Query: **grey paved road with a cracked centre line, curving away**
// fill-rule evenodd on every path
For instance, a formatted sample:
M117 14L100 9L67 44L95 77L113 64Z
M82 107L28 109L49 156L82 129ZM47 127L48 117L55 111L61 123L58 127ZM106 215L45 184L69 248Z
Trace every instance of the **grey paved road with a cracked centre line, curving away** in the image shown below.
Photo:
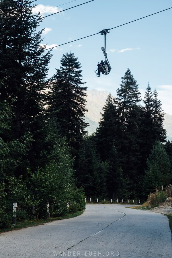
M0 257L172 257L168 218L126 206L87 205L79 217L1 233Z

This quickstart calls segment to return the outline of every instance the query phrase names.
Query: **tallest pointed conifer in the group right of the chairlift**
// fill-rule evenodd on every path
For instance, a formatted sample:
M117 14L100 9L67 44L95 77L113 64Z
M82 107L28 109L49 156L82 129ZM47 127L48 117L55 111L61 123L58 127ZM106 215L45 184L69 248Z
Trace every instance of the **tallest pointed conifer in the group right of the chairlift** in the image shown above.
M138 84L128 68L120 88L117 89L118 101L122 106L121 112L121 137L118 152L122 156L122 170L124 177L130 181L130 196L135 198L139 190L140 180L140 123L141 107L139 105L140 92Z

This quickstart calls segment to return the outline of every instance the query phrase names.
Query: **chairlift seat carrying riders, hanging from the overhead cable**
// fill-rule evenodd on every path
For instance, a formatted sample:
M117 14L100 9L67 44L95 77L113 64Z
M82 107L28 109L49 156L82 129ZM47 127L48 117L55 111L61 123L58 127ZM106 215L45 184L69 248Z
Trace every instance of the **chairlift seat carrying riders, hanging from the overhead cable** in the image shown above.
M111 70L111 66L110 66L110 63L107 59L107 53L106 53L106 34L109 33L108 30L109 29L104 29L104 30L100 31L101 35L105 35L105 46L101 47L101 50L103 51L103 54L105 56L105 61L103 61L103 63L104 63L103 65L99 65L99 69L100 69L101 73L105 74L105 75L108 75L110 73L110 70ZM98 62L98 63L100 64L101 62ZM98 75L98 77L100 77L100 75Z

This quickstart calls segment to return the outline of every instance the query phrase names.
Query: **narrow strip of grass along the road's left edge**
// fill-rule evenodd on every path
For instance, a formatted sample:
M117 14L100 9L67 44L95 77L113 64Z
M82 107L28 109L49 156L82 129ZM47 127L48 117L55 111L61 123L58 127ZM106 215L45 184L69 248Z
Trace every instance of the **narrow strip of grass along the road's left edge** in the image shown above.
M60 216L60 217L56 217L56 218L47 218L47 219L40 219L40 220L25 220L24 222L17 222L16 226L11 226L9 228L2 228L2 229L0 228L0 233L17 230L17 229L21 229L21 228L28 228L28 227L43 225L44 223L53 222L55 220L64 220L64 219L68 219L68 218L74 218L81 214L83 214L83 212L78 211L73 214L67 214L65 216Z

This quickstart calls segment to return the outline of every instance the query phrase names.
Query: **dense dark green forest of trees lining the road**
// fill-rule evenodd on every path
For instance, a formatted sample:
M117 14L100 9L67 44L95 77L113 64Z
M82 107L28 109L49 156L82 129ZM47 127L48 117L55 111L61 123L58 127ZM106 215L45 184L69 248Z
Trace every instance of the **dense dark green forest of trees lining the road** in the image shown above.
M18 217L84 210L85 197L146 200L172 176L172 142L163 110L148 84L141 105L127 69L108 95L96 132L87 134L86 83L73 53L51 78L51 50L41 46L41 20L28 0L0 2L0 227L13 202ZM69 207L67 206L69 203Z

